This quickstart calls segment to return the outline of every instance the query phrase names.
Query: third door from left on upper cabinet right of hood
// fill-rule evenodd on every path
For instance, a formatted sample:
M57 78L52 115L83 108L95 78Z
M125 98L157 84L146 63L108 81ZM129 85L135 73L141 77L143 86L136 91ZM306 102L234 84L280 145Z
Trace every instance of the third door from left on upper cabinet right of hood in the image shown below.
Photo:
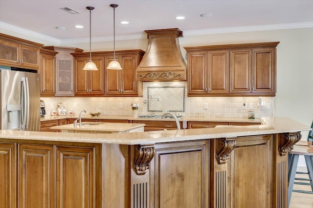
M251 78L251 50L231 50L230 93L250 93Z

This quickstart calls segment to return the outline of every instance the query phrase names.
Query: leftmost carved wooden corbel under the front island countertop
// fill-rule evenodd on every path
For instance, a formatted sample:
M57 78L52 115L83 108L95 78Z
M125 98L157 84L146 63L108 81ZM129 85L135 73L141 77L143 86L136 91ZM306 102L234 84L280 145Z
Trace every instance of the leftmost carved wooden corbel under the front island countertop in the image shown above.
M134 171L137 175L144 175L150 168L150 161L155 156L154 146L134 146Z

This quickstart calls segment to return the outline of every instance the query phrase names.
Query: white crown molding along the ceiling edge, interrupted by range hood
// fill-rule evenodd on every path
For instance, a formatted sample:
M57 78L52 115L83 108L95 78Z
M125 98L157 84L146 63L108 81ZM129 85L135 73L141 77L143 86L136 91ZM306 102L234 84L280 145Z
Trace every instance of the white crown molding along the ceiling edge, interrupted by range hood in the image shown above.
M295 28L307 28L313 27L313 22L303 22L303 23L289 23L289 24L270 24L270 25L258 25L258 26L246 26L246 27L228 27L228 28L216 28L216 29L206 29L206 30L186 30L184 31L184 36L192 35L207 35L207 34L218 34L218 33L235 33L235 32L251 32L251 31L264 31L264 30L281 30L281 29L295 29ZM0 21L0 29L10 30L23 35L28 35L37 39L42 39L48 42L53 42L56 45L60 44L70 44L70 43L83 43L89 42L89 38L84 39L67 39L59 40L46 36L40 33L36 33L30 30L26 30L14 25L10 25ZM134 39L146 39L146 34L137 35L125 35L125 36L115 36L115 40L134 40ZM91 42L108 42L113 41L113 36L110 37L99 37L91 38Z

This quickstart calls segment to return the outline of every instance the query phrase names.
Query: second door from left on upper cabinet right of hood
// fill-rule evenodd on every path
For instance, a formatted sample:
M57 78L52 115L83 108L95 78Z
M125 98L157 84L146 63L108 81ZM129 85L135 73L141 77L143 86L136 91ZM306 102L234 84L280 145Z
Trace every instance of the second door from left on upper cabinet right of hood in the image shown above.
M228 51L209 52L209 93L228 93Z

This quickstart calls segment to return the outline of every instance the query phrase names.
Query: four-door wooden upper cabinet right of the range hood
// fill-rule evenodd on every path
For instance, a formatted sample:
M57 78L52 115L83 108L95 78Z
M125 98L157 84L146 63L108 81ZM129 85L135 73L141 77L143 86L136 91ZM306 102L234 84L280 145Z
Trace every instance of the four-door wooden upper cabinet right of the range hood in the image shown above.
M185 47L188 96L275 96L279 42Z

